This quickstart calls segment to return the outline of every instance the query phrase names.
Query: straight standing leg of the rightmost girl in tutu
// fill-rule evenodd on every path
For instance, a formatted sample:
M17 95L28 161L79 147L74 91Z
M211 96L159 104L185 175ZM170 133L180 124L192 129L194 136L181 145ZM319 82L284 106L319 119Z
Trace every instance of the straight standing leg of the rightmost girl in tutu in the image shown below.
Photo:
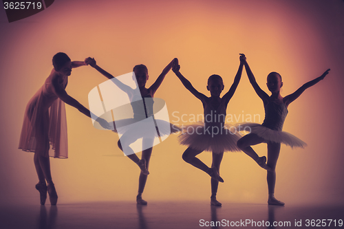
M279 158L279 151L281 150L281 143L268 142L268 166L270 171L266 179L268 181L268 204L270 205L284 205L282 201L275 198L275 184L276 184L276 164Z

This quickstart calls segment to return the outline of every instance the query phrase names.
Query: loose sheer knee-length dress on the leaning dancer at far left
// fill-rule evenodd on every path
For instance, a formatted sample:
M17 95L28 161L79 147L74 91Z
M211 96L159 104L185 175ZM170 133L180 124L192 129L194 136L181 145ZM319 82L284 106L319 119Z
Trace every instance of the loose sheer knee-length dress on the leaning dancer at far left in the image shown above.
M56 77L54 69L26 106L19 149L44 157L67 158L65 102L56 95L53 76ZM57 77L61 77L59 87L65 89L68 76Z

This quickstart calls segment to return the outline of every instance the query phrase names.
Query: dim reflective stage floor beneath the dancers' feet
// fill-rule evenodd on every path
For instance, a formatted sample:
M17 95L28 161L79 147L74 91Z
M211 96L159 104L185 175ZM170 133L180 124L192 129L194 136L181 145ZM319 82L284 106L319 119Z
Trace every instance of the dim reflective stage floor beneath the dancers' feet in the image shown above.
M1 204L1 229L344 228L344 206L268 206L208 202ZM315 221L308 221L314 219ZM316 220L322 220L319 223ZM332 219L331 224L330 219ZM275 226L273 222L275 221ZM307 226L308 223L310 226ZM315 223L315 224L311 224ZM321 226L316 227L318 223ZM270 224L270 226L269 226ZM297 225L297 226L296 226ZM325 226L326 225L326 226ZM341 226L340 226L341 225ZM314 227L313 227L314 226Z

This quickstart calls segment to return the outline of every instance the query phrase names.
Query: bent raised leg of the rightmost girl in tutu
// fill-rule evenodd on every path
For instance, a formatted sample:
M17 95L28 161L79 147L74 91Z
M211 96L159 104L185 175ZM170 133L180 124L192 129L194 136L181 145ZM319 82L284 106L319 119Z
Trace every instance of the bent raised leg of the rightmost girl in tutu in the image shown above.
M270 168L266 165L266 157L259 157L257 153L252 149L252 145L259 144L265 142L264 138L259 137L255 133L249 133L248 135L245 135L244 137L240 138L237 141L237 146L241 151L244 151L247 155L249 155L261 168L264 168L266 170L269 170Z

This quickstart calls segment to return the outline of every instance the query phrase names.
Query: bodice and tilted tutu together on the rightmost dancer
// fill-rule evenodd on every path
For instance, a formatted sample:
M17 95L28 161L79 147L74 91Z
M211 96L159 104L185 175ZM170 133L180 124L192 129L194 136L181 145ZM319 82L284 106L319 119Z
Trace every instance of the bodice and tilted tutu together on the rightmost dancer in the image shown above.
M305 142L295 137L294 135L282 131L284 120L288 114L286 105L282 103L269 102L265 109L265 118L262 124L258 123L240 123L237 124L239 131L248 131L255 133L266 141L286 144L290 147L307 146Z

